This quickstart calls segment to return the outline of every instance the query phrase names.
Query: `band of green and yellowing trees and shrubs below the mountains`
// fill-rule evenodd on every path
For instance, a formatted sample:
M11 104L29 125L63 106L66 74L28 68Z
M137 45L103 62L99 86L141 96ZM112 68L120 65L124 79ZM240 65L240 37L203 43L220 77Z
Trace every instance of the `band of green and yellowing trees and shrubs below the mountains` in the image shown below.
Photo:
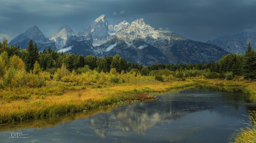
M95 73L96 72L96 73ZM249 43L244 55L228 54L219 62L198 64L154 64L142 66L129 63L119 55L95 57L93 55L58 53L49 47L38 51L36 44L30 40L27 49L8 46L7 40L0 42L0 86L43 86L45 79L73 81L71 75L99 76L100 73L129 73L134 76L154 76L159 81L170 81L174 78L185 80L186 77L204 76L206 78L233 79L243 75L245 79L256 79L256 52ZM95 75L96 74L96 75ZM74 76L73 76L74 77ZM80 77L76 77L77 80ZM128 76L129 77L129 76ZM93 77L92 77L93 78ZM130 77L129 77L130 78ZM111 79L114 83L125 82L125 79ZM90 81L91 82L91 81ZM94 81L93 81L94 82Z

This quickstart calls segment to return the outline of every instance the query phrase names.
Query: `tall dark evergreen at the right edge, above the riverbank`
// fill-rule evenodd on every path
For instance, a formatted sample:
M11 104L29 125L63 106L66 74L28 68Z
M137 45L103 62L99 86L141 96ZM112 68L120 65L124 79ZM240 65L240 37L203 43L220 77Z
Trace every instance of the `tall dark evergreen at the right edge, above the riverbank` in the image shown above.
M256 52L251 48L249 42L243 63L244 79L256 79Z

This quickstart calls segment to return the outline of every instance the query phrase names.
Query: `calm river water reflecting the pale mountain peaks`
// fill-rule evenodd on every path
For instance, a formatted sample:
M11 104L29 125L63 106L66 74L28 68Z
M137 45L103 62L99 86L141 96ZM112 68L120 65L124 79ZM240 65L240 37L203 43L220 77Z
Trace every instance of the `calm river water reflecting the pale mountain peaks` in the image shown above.
M248 121L247 111L255 109L243 97L240 92L197 87L105 112L3 126L0 142L228 143L230 134ZM11 139L12 132L28 138Z

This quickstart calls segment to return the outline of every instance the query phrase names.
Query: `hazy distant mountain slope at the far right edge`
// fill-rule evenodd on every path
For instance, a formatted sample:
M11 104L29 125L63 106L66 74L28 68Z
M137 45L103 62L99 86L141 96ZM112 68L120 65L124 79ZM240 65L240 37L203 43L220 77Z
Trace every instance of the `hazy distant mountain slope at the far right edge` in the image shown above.
M215 44L224 50L234 54L244 54L248 43L256 50L256 33L238 33L235 35L220 36L213 41L207 41L209 44Z

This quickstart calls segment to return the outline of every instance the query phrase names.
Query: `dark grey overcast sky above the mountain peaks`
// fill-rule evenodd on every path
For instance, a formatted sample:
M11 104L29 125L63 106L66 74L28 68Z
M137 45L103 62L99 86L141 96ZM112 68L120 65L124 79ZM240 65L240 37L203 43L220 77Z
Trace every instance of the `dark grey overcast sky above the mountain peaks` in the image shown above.
M256 0L0 0L0 38L10 41L34 25L45 36L63 24L78 32L101 14L111 24L144 18L202 42L256 31Z

